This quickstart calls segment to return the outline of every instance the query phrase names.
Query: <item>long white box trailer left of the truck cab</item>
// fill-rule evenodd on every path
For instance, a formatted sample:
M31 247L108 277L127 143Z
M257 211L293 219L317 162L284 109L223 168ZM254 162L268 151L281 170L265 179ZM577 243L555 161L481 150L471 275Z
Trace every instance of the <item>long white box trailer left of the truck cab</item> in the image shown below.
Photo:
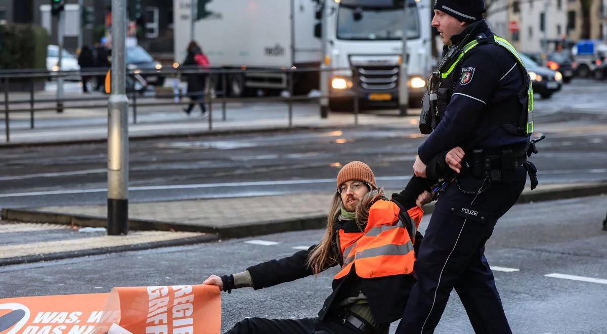
M320 39L314 37L312 0L198 0L194 40L211 66L226 69L319 67ZM192 0L174 1L175 61L181 63L191 41ZM291 19L293 18L293 19ZM286 89L287 75L245 72L229 75L232 95L245 87ZM317 73L314 73L317 76Z

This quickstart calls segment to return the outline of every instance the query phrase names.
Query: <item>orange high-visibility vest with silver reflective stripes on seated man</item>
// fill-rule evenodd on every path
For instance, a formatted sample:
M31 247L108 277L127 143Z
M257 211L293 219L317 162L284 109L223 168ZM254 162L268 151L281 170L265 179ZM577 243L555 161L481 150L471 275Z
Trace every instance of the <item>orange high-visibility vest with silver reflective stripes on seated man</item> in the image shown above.
M335 279L350 273L352 265L360 278L375 278L413 272L413 243L424 211L415 206L407 214L394 202L378 200L369 209L365 230L339 230L337 244L344 264Z

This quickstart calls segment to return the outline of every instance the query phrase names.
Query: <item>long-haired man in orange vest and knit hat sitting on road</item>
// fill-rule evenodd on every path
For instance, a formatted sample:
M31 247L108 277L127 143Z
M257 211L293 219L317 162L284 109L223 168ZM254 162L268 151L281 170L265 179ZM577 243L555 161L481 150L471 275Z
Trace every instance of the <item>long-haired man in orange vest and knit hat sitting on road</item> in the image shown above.
M392 200L376 185L369 166L345 165L337 175L325 236L317 245L290 257L263 262L242 273L211 275L203 284L228 293L260 289L318 274L335 265L333 293L318 318L247 318L227 333L387 333L399 319L415 282L413 262L422 236L417 232L432 200L427 179L413 177Z

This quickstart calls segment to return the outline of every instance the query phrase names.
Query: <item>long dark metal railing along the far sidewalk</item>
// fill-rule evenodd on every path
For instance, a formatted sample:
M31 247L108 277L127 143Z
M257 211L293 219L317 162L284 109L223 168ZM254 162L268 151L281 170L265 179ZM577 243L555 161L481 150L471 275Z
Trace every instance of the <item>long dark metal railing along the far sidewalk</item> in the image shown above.
M4 114L4 123L5 123L5 138L6 141L10 141L10 114L15 113L25 113L29 112L30 114L30 129L35 128L35 115L36 112L49 112L49 111L63 111L64 109L81 109L81 108L107 108L107 98L108 97L86 97L86 98L62 98L58 100L57 98L35 98L35 82L44 80L46 81L49 78L57 78L57 77L100 77L105 76L107 70L109 68L95 68L95 69L87 69L87 70L78 70L78 71L59 71L59 72L49 72L47 70L0 70L0 83L2 84L2 90L4 90L4 111L0 110L0 113ZM352 84L353 86L347 90L342 91L340 94L332 94L334 89L330 89L329 94L323 95L322 93L319 95L294 95L294 76L300 75L302 73L309 72L341 72L344 71L352 73ZM203 97L204 103L208 106L208 129L211 131L213 129L213 104L221 103L222 108L222 120L226 120L227 114L227 105L229 103L246 103L246 102L256 102L256 103L264 103L264 102L282 102L287 103L287 112L288 112L288 127L293 127L293 103L297 101L318 101L320 104L320 100L323 98L342 98L347 99L351 98L353 100L353 117L354 124L358 124L359 117L359 83L358 76L359 70L354 68L339 68L339 69L220 69L220 68L208 68L201 69L200 67L179 67L177 69L163 69L163 70L130 70L127 73L129 76L129 80L132 81L132 86L127 84L127 97L129 97L129 106L132 108L132 123L137 123L137 111L138 108L141 107L158 107L158 106L182 106L191 103L200 103L197 100L184 100L184 98L197 98ZM230 75L246 75L249 73L256 74L264 74L264 73L281 73L287 76L287 87L286 91L288 94L273 96L273 97L229 97L227 90L227 81ZM209 89L207 85L206 91L204 94L183 94L179 89L177 94L173 92L173 94L155 94L154 96L138 96L141 93L141 90L137 90L137 84L135 81L139 81L145 88L145 79L144 77L148 75L159 75L164 76L164 78L169 79L177 79L181 77L181 75L188 74L203 74L208 75L210 78L215 78L215 80L220 79L221 89L220 90L212 90ZM319 73L320 74L320 73ZM143 81L142 81L143 79ZM26 99L10 99L10 82L19 81L21 84L29 81L29 98ZM214 84L214 81L212 81ZM156 101L146 101L154 98ZM157 100L171 100L168 102L158 102ZM104 101L103 104L82 104L84 101ZM38 104L42 103L54 103L53 106L39 106ZM72 104L66 104L72 103ZM15 104L29 104L29 107L12 107ZM61 109L59 109L61 108ZM321 115L322 117L322 115Z

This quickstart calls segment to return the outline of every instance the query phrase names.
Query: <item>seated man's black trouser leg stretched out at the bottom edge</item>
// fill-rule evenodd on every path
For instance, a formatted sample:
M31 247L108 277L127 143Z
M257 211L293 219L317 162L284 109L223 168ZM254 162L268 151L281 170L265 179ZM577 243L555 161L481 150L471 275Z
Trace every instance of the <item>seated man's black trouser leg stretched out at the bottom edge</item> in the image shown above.
M318 321L318 318L265 319L246 318L225 334L360 334L358 329L336 320ZM387 333L387 332L386 332Z

